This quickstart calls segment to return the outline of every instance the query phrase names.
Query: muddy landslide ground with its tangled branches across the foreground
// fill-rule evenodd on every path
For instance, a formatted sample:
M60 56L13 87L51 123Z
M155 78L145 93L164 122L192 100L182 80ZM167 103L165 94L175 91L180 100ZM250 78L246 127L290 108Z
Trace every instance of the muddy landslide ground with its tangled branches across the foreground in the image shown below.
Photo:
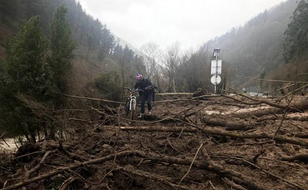
M183 96L177 98L189 99ZM168 99L176 98L165 98ZM244 100L251 102L249 99ZM274 97L264 100L275 102ZM297 100L300 102L303 97L298 97ZM234 105L236 103L237 106L240 104L242 107L224 105L223 102ZM284 117L277 135L308 143L308 112L299 111L284 115L285 110L282 109L278 114L250 115L251 111L268 108L270 106L266 104L245 105L222 97L154 103L153 115L146 115L145 119L133 122L129 121L129 117L123 119L122 108L119 113L116 113L116 108L114 114L104 110L98 113L94 110L93 113L101 116L95 117L97 119L93 119L91 122L94 123L91 124L80 122L83 127L75 130L72 138L66 139L63 144L62 140L42 141L37 145L20 147L14 154L2 154L0 188L4 185L9 188L26 182L27 179L57 172L56 175L25 184L24 188L307 190L308 159L304 156L301 159L284 161L285 156L308 153L306 144L297 145L273 141L270 138L247 139L212 135L201 130L226 132L230 126L219 123L213 125L210 122L219 120L222 123L225 121L244 126L238 130L232 129L232 133L274 135L281 124L281 118ZM187 111L183 112L184 110ZM193 112L196 114L185 117ZM248 116L239 118L238 115L241 114ZM273 115L277 118L267 119ZM159 121L163 118L171 119ZM124 129L134 126L139 127L139 130ZM185 132L187 127L195 131ZM149 128L169 128L170 131L144 131ZM183 131L172 132L173 129L179 128ZM41 161L48 151L50 154ZM12 159L31 152L37 153ZM99 158L103 160L86 163ZM80 164L81 162L83 164ZM41 165L38 170L25 177L25 173L39 163ZM66 168L76 164L78 165L74 168ZM244 182L245 180L249 183Z

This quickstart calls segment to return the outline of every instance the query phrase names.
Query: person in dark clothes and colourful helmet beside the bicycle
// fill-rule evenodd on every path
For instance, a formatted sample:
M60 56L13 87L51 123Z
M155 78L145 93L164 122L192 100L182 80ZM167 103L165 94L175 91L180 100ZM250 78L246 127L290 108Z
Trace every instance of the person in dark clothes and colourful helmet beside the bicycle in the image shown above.
M147 102L149 114L152 111L151 101L154 95L154 84L149 78L143 77L140 74L136 76L136 84L134 90L139 89L140 101L141 101L141 111L138 118L142 118L145 113L145 104Z

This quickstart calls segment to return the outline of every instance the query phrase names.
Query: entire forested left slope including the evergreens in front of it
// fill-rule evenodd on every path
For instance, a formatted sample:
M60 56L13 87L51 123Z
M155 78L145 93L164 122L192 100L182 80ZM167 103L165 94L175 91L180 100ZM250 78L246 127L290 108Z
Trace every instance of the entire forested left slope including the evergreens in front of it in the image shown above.
M77 106L63 94L118 101L144 70L142 58L75 0L1 0L0 10L0 131L35 141L37 127L61 124L28 103Z

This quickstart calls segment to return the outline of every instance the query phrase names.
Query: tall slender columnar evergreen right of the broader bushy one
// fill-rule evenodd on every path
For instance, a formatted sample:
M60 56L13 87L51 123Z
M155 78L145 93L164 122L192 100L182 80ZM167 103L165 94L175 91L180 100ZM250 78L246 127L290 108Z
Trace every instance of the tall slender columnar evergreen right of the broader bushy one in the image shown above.
M64 76L71 67L73 51L77 47L77 43L71 39L71 27L66 20L67 12L68 9L64 5L59 6L50 24L52 54L49 63L56 86L60 91L65 89Z

